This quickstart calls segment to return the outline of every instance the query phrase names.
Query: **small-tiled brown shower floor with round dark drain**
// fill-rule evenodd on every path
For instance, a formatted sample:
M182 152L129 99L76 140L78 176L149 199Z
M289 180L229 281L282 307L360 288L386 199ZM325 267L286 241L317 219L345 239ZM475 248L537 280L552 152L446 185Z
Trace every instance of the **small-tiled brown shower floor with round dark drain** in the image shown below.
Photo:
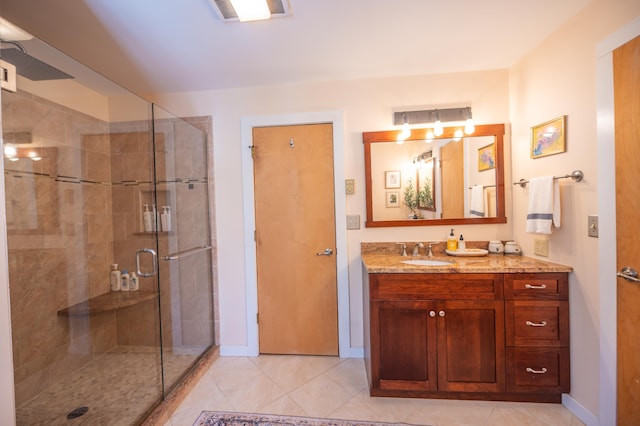
M165 353L167 383L173 383L197 355ZM155 350L119 347L96 354L91 362L49 386L17 409L17 425L134 424L160 398L161 373ZM89 411L75 420L67 414L78 407Z

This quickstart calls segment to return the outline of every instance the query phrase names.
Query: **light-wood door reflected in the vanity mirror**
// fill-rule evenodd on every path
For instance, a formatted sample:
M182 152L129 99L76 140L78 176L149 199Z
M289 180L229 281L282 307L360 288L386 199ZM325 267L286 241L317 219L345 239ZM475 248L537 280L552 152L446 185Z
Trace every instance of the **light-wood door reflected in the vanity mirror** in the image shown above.
M443 219L465 217L463 154L464 149L461 141L452 141L440 148Z

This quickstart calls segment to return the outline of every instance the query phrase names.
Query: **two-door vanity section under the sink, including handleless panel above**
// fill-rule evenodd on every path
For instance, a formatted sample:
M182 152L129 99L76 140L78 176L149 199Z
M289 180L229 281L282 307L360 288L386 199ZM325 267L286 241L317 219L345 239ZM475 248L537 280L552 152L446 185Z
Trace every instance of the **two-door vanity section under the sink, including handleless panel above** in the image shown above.
M372 395L504 391L501 274L368 278Z

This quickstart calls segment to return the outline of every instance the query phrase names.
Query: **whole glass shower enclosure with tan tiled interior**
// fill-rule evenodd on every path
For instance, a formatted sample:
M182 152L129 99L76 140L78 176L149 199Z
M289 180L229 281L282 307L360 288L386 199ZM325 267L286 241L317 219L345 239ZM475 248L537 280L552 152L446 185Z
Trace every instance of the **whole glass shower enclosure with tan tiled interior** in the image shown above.
M36 39L0 59L17 424L138 424L214 345L210 122Z

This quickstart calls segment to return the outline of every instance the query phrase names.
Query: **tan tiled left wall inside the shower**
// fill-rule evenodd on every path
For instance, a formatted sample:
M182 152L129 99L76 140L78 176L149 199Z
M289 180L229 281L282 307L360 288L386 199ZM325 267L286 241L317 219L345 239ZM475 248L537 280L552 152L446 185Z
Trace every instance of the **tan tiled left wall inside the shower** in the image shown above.
M55 177L110 182L110 148L106 123L28 93L3 93L2 111L5 143L42 158L4 160L19 406L116 344L114 314L57 315L109 291L113 231L109 185Z

